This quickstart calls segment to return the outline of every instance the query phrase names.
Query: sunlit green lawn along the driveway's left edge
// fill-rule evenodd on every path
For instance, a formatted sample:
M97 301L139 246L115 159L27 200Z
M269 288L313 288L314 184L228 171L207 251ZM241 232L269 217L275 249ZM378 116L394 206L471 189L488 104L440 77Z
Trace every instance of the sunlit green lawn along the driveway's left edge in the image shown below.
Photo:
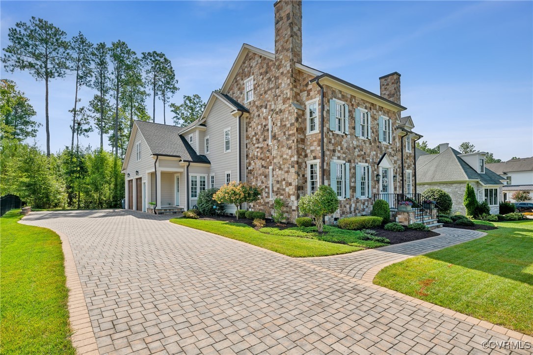
M0 353L74 354L61 240L19 211L0 218Z

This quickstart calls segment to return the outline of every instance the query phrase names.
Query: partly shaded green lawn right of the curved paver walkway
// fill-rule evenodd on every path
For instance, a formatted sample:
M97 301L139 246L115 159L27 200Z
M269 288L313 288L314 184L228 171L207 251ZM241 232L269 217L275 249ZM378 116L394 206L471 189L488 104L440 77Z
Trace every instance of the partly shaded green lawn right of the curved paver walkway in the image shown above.
M381 270L374 283L533 335L533 221Z

